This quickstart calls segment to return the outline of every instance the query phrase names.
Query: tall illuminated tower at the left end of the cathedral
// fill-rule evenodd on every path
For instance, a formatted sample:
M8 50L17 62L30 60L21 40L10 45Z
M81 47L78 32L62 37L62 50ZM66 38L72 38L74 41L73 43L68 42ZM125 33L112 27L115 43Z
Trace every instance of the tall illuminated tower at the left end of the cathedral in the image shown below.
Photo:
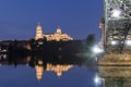
M44 38L43 28L41 28L41 25L38 23L38 25L36 27L35 40L43 39L43 38Z

